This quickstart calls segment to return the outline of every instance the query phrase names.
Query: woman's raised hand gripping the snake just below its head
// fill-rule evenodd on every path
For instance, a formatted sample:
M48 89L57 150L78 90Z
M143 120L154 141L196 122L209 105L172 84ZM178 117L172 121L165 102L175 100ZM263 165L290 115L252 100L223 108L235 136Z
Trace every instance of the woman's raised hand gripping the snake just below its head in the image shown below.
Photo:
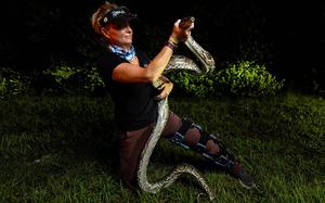
M178 43L180 41L186 41L188 36L191 36L191 30L194 28L194 22L191 23L191 25L183 29L180 26L181 20L178 20L172 27L172 33L171 36L169 38L169 40L171 40L174 43Z

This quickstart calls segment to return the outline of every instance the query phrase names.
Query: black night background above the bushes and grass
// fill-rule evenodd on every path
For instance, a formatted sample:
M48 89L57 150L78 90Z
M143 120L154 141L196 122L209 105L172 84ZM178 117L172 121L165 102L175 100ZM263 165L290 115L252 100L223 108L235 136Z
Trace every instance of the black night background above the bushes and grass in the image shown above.
M325 4L321 1L114 1L138 13L134 45L151 56L168 39L173 22L196 17L194 38L219 64L253 60L287 86L324 93ZM0 67L28 74L60 62L95 62L100 41L90 27L100 0L3 1ZM220 68L222 68L220 66Z

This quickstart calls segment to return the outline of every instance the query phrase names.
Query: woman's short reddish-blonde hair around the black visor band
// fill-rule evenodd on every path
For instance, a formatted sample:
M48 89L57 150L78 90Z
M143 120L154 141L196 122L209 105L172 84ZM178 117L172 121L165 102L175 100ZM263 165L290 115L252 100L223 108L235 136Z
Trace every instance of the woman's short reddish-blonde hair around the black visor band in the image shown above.
M105 1L91 16L90 22L93 30L101 35L101 28L102 26L100 25L101 18L104 17L104 15L109 12L113 9L117 9L119 5L115 3L110 3L108 1Z

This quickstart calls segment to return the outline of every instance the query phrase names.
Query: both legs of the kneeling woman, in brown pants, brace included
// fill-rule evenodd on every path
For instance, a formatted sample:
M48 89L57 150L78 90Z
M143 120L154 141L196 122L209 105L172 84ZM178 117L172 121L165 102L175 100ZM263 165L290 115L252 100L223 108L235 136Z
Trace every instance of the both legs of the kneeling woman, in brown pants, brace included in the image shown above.
M239 178L246 187L253 185L253 180L249 174L243 170L239 162L234 160L225 147L221 145L221 142L218 143L218 140L213 137L204 135L202 129L195 124L188 124L188 120L185 122L173 112L170 112L161 136L179 145L199 152L218 166L223 165L222 167L224 169L234 177ZM184 126L187 126L188 128ZM120 174L121 178L130 188L134 188L136 186L139 160L153 128L154 124L139 130L125 131L121 134L119 151ZM179 139L179 135L182 136L182 140L176 141L174 138L177 137Z

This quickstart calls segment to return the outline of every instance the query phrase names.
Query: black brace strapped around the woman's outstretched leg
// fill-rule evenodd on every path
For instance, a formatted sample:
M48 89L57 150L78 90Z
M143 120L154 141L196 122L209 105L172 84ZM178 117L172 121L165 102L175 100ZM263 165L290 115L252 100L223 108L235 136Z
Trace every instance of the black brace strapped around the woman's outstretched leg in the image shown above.
M191 128L197 128L200 134L200 138L195 147L190 147L184 141L185 134ZM206 135L202 127L187 120L183 119L182 126L174 135L172 135L169 140L178 145L181 145L185 149L192 149L200 153L204 157L208 158L218 166L221 166L224 169L231 170L234 166L234 156L227 151L225 145L216 135ZM210 154L207 152L207 142L212 140L219 147L219 154Z

